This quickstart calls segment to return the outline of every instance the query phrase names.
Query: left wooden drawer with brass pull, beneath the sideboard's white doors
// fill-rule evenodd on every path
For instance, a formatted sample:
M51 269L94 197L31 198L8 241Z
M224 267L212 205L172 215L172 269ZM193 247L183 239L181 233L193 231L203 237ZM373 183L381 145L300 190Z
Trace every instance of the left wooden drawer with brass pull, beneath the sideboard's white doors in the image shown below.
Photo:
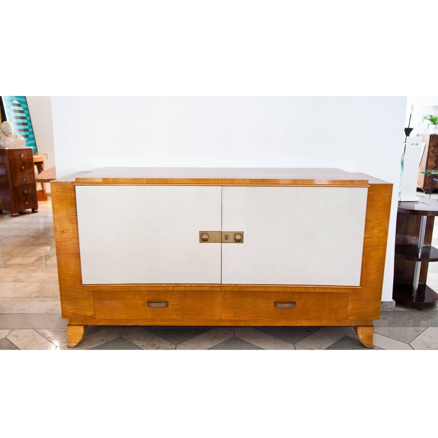
M95 291L96 319L137 319L181 325L220 319L220 291Z

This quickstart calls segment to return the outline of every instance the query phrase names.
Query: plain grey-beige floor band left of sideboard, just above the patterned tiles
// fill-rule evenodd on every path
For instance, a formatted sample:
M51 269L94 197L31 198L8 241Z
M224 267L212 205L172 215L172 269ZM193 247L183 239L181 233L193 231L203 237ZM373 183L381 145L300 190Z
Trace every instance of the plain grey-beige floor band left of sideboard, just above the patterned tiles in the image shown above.
M64 329L67 322L58 313L0 314L0 329Z

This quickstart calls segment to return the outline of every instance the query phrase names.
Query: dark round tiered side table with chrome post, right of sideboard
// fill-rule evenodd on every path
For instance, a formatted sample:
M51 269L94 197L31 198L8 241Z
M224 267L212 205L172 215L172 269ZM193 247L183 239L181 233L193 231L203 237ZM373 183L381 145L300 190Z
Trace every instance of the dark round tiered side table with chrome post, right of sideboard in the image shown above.
M431 246L435 216L437 201L420 197L399 202L392 289L396 303L423 309L438 301L438 294L426 284L429 263L438 261L438 249Z

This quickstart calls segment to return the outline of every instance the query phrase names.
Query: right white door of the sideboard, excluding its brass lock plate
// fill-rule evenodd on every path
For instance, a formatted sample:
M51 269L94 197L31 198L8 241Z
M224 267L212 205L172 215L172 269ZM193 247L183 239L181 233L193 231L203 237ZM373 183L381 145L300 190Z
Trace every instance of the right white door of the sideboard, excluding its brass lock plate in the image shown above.
M223 284L359 286L367 187L223 187Z

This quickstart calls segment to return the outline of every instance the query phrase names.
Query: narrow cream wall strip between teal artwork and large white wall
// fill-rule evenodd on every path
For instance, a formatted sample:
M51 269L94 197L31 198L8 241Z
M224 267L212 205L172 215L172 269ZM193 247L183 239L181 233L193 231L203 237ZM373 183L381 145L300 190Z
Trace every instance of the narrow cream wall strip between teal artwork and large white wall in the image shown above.
M53 146L52 108L50 96L26 96L38 152L47 154L44 169L55 167L55 148ZM38 184L39 186L39 184ZM50 184L46 184L50 191Z

